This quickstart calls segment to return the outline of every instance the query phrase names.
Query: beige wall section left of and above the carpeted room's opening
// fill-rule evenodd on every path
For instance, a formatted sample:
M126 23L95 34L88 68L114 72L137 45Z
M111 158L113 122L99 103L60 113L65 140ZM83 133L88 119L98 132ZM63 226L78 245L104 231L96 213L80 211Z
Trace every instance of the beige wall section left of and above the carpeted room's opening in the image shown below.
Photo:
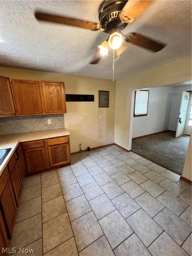
M130 150L133 121L132 91L192 80L187 56L116 81L115 143ZM161 110L159 110L161 111Z

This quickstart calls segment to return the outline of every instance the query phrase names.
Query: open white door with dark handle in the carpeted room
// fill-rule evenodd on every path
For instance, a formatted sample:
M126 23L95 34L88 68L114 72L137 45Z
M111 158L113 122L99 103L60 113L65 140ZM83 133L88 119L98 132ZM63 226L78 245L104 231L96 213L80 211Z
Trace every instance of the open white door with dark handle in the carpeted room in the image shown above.
M190 95L189 92L182 92L179 116L177 117L178 121L177 121L176 135L175 135L176 138L183 134L187 107L189 102L189 95Z

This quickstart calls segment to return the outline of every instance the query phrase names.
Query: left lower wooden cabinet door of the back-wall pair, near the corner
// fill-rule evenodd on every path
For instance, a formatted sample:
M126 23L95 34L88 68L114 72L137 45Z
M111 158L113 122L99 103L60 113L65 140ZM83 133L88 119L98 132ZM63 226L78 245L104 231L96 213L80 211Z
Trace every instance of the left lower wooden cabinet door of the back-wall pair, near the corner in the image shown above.
M47 168L45 148L33 148L24 151L27 172L37 172Z

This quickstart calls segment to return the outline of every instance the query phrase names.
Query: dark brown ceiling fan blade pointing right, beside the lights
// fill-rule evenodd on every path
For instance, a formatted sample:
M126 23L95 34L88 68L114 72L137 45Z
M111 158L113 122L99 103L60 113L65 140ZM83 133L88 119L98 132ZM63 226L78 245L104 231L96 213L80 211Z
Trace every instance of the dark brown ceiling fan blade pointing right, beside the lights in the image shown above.
M153 52L161 51L166 46L166 44L158 43L157 41L137 33L129 33L125 41L146 48Z

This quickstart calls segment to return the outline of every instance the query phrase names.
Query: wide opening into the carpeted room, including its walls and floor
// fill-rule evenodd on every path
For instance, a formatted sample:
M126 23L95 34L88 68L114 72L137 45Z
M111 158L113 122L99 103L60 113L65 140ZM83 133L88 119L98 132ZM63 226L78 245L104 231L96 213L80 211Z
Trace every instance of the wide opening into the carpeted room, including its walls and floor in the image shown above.
M140 97L140 107L139 101L132 102L134 111L137 104L137 111L143 112L132 117L132 151L179 175L192 127L191 81L188 83L142 89L149 91L147 110L146 99ZM138 95L144 97L144 93Z

